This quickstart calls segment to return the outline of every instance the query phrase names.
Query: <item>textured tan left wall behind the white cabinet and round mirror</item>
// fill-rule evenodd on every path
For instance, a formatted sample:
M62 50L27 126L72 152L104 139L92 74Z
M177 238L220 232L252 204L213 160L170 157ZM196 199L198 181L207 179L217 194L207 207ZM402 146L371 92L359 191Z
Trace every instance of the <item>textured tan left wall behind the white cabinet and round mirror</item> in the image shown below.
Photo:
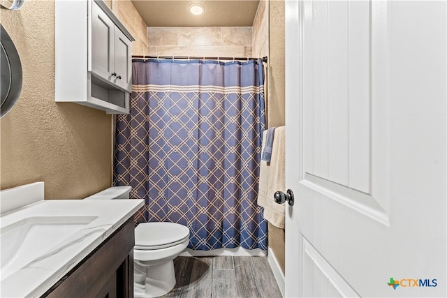
M109 187L112 117L54 102L54 1L27 0L0 18L23 68L17 105L0 120L0 188L45 181L45 198L80 199Z

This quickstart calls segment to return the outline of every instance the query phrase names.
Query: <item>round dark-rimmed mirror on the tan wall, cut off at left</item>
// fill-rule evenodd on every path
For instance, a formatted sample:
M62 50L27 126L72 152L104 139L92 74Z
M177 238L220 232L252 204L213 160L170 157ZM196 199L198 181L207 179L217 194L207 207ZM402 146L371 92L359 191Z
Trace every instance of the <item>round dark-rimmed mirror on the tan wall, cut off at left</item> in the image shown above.
M22 64L13 40L0 24L0 118L13 108L22 90Z

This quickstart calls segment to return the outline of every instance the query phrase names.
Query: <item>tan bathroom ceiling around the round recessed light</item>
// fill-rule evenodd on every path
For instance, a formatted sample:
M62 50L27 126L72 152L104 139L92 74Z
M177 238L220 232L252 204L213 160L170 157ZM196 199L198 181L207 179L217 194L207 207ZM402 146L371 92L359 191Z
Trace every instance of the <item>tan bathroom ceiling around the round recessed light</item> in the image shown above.
M132 0L148 27L251 27L259 0L244 1L152 1ZM188 6L200 3L202 15L193 15Z

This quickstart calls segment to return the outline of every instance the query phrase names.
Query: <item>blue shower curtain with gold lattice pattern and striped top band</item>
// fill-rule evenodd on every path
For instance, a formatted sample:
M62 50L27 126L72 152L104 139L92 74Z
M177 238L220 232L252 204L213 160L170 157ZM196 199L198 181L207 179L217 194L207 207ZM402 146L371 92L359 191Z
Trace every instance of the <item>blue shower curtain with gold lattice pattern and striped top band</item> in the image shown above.
M144 221L191 230L189 248L267 248L258 195L265 129L258 61L133 60L117 117L114 184L145 199Z

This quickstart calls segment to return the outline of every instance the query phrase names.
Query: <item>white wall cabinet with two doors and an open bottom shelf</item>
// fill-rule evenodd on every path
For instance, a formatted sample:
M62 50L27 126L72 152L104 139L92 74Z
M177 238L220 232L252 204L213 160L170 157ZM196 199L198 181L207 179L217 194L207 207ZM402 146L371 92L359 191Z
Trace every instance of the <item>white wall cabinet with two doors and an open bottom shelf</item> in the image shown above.
M103 1L56 1L56 101L129 113L133 40Z

